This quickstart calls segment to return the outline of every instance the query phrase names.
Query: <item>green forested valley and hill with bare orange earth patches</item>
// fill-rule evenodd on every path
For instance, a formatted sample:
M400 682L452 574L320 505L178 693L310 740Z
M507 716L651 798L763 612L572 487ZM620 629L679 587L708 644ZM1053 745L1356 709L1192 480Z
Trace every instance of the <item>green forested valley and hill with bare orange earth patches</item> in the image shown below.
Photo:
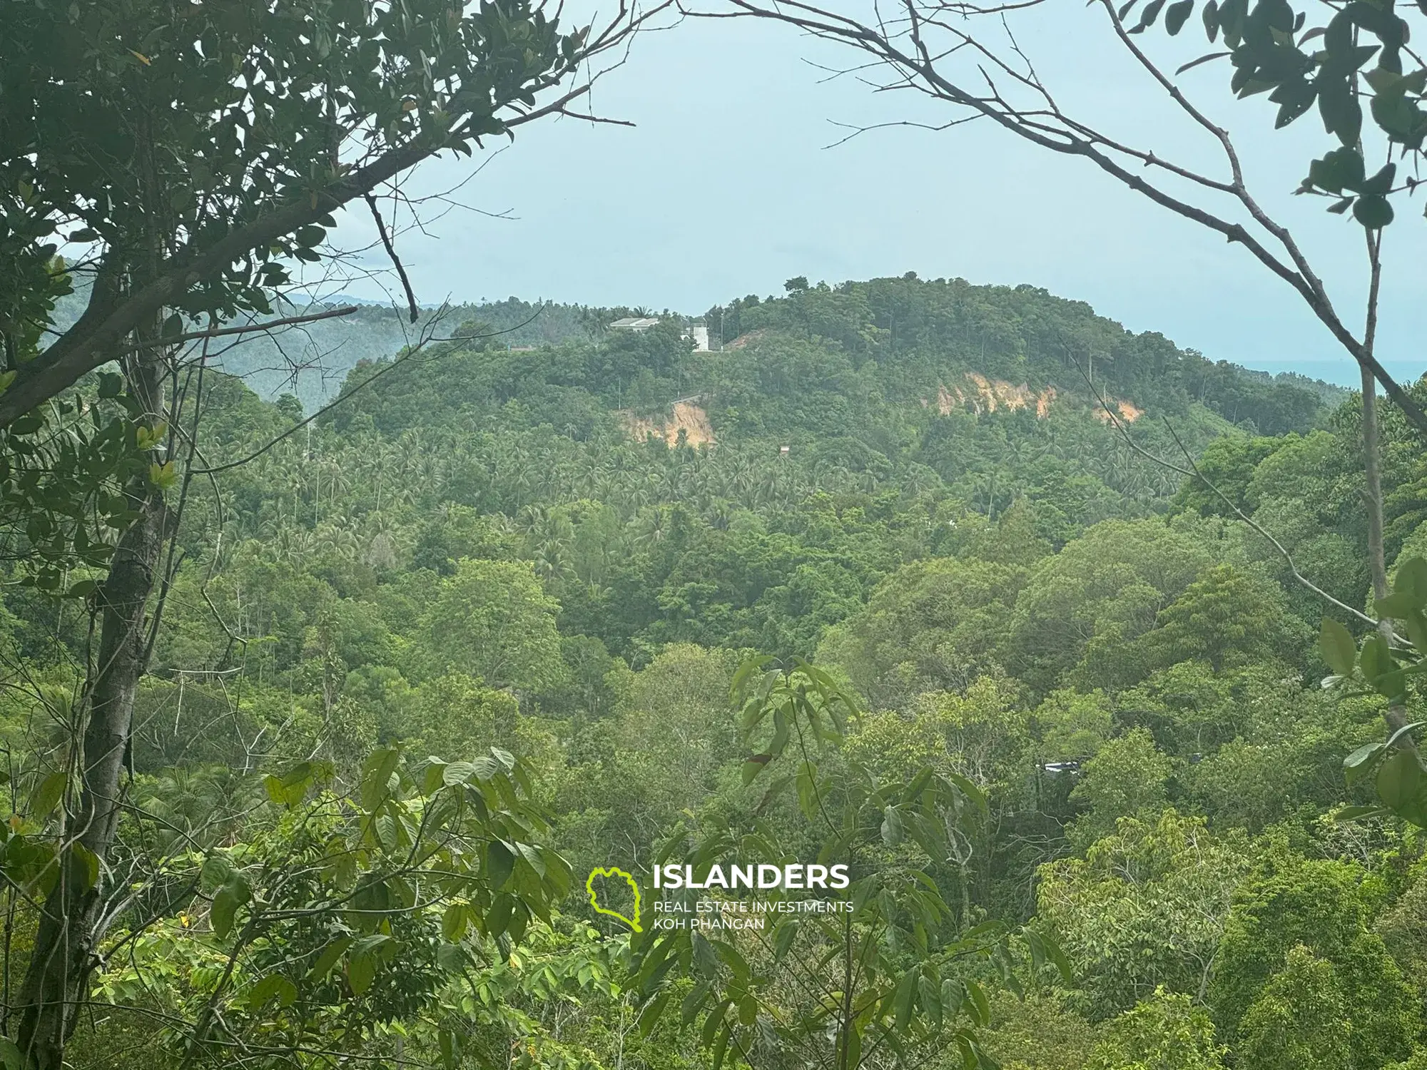
M66 1064L1427 1067L1421 832L1344 776L1398 699L1321 685L1373 635L1361 397L1032 287L792 280L704 322L452 324L295 431L295 397L176 379ZM107 375L20 429L124 425ZM1427 459L1381 419L1410 601ZM37 897L100 865L66 820L106 558L36 516L6 1007ZM592 869L731 856L849 860L855 912L591 910Z

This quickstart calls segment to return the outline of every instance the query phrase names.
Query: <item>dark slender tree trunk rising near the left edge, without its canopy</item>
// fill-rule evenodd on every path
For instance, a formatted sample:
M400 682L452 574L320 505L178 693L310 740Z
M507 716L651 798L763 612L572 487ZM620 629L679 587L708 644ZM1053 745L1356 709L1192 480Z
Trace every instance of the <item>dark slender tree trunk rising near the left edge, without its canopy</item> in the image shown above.
M151 351L133 358L126 371L144 411L163 412L161 371ZM98 962L96 947L103 939L98 922L110 890L106 872L123 803L134 695L148 661L146 608L160 568L167 511L163 494L150 485L147 474L136 477L126 492L138 515L120 536L108 576L97 592L98 661L90 676L78 812L64 840L73 837L100 860L100 879L94 887L83 887L74 879L76 867L66 865L64 857L59 883L46 896L34 952L11 1009L13 1036L34 1070L60 1070L64 1044L88 999L90 976Z

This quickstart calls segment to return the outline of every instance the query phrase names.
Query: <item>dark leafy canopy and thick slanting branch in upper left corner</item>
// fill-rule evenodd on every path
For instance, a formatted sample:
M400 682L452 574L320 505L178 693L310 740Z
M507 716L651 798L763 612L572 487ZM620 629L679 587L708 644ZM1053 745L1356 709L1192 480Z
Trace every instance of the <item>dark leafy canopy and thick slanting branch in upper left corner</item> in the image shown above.
M83 17L81 17L83 14ZM16 71L0 126L9 258L0 428L126 352L158 342L163 310L267 311L284 261L313 250L331 213L442 151L469 153L588 86L545 103L639 23L562 31L529 4L291 3L183 11L166 0L16 9L0 63ZM19 73L23 71L23 76ZM98 243L86 314L43 355L63 277L53 237ZM241 265L234 268L234 265ZM131 332L148 331L143 347ZM164 328L170 341L178 321Z

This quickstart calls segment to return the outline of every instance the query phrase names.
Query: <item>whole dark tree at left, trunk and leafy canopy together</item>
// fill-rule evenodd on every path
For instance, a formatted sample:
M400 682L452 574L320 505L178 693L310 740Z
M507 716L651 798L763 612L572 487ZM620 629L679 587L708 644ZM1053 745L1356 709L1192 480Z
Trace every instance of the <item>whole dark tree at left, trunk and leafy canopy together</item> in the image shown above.
M588 81L562 83L639 20L621 9L567 31L522 0L7 7L0 501L49 589L73 564L106 569L70 586L97 625L74 722L84 762L59 792L74 835L57 842L80 863L103 872L124 800L134 695L200 467L207 341L271 315L287 265L323 260L332 213L367 200L388 241L375 191L564 111ZM74 264L56 258L63 241ZM86 310L56 332L73 275L88 281ZM220 327L233 318L247 322ZM87 401L59 399L110 362ZM44 445L56 439L68 445ZM47 889L9 1019L41 1070L63 1059L114 893L67 876Z

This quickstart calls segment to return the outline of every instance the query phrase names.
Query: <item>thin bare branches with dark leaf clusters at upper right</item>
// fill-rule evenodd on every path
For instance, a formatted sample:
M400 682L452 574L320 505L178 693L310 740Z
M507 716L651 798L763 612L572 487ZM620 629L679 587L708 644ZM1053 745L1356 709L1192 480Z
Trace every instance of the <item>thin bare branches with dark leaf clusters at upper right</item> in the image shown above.
M1287 0L1210 0L1202 10L1210 41L1223 36L1223 49L1202 61L1227 57L1233 66L1230 91L1250 97L1271 90L1279 104L1277 126L1287 126L1314 104L1329 134L1329 151L1306 168L1303 193L1334 198L1334 211L1353 210L1366 234L1368 298L1366 327L1354 332L1334 307L1329 291L1291 231L1264 210L1250 190L1229 131L1210 120L1167 73L1147 39L1137 37L1160 14L1170 36L1194 11L1194 0L1167 9L1149 3L1136 16L1110 0L1095 4L1102 33L1117 43L1142 71L1146 91L1167 97L1172 116L1187 131L1207 134L1217 165L1126 144L1107 133L1104 117L1072 114L1046 84L1033 58L1022 49L1016 29L1033 19L1039 0L1007 13L999 4L965 0L913 0L895 23L863 21L855 14L813 3L766 6L758 0L729 0L716 14L741 14L781 21L860 53L863 70L882 70L883 86L923 93L950 111L948 126L985 118L1007 134L1043 151L1085 160L1106 177L1199 227L1241 245L1260 265L1290 285L1363 370L1364 392L1376 378L1411 424L1427 435L1427 414L1393 379L1374 352L1381 261L1378 243L1393 220L1390 198L1410 193L1414 183L1397 183L1394 151L1416 157L1427 133L1420 101L1427 78L1421 64L1404 57L1410 24L1391 9L1364 4L1344 11L1327 9L1326 21L1304 27L1306 10ZM1408 10L1410 9L1404 9ZM1411 13L1416 17L1416 13ZM1319 44L1313 44L1321 39ZM1368 43L1371 41L1371 43ZM1376 58L1373 67L1368 60ZM1411 70L1407 66L1416 64ZM1184 64L1180 68L1194 66ZM1373 123L1364 123L1361 100L1371 100ZM1381 170L1367 175L1368 160ZM1370 459L1370 467L1371 467Z

